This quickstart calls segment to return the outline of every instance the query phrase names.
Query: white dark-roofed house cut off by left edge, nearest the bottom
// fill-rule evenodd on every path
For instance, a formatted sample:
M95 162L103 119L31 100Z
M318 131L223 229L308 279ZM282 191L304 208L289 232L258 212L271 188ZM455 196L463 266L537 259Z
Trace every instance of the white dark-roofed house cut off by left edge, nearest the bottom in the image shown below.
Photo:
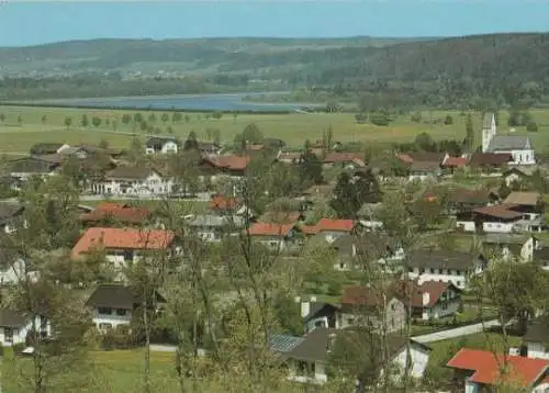
M0 345L11 347L25 344L31 332L38 332L42 338L52 335L52 325L45 315L32 315L19 311L0 308Z

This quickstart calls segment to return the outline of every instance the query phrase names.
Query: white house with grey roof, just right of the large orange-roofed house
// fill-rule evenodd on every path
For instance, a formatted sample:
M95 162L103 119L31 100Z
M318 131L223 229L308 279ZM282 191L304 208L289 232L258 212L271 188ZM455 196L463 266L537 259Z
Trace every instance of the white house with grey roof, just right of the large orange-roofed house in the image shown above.
M189 217L188 226L204 242L221 242L225 236L242 233L246 221L242 215L203 214Z

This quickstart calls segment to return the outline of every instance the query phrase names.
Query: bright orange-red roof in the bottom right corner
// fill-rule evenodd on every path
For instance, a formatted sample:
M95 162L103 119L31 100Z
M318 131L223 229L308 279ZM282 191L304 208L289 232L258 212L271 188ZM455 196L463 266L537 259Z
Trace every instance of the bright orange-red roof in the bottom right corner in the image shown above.
M453 358L446 364L447 367L470 370L474 373L469 379L471 382L483 384L495 384L501 382L501 368L506 360L509 371L506 382L519 384L520 386L531 386L541 378L549 368L549 360L533 359L519 356L492 353L488 350L461 348Z

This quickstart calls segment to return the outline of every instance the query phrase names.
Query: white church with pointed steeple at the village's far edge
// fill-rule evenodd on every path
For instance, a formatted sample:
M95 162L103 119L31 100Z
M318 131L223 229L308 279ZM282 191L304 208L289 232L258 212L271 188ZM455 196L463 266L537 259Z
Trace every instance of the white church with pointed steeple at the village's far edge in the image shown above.
M482 153L508 153L513 157L509 165L536 164L528 135L497 134L493 113L485 113L482 121Z

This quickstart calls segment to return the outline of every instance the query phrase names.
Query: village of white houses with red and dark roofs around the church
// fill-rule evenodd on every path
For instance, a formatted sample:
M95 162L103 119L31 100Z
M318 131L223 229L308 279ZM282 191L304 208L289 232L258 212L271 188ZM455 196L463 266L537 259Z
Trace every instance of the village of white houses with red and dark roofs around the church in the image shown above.
M336 338L360 340L366 326L370 340L371 332L388 337L390 363L397 366L394 372L381 362L370 369L422 381L433 343L519 325L518 312L501 318L497 299L479 304L475 297L494 263L549 271L549 168L538 164L527 135L498 132L494 114L484 115L479 133L479 148L459 155L351 151L332 135L290 150L279 139L249 141L251 132L232 147L172 136L152 136L127 150L36 144L27 156L2 162L2 237L33 225L33 207L21 196L30 184L70 179L79 196L79 233L67 258L99 258L104 269L102 279L97 273L70 285L86 293L90 323L105 336L131 334L143 299L126 272L146 259L167 260L173 274L181 268L175 260L208 260L211 250L226 252L229 244L242 246L245 260L251 249L264 262L289 267L315 259L322 267L303 273L299 293L290 289L301 334L269 335L285 378L328 383L336 378L329 371ZM41 272L25 256L4 254L2 288L37 280ZM234 292L222 297L231 302ZM149 306L166 307L163 288L155 288L154 299ZM526 319L520 343L501 356L523 388L546 392L549 329L537 310ZM43 337L55 336L47 313L30 318L0 310L1 346L29 350L33 326ZM449 355L442 366L452 370L459 391L500 383L498 359L490 350L463 347Z

